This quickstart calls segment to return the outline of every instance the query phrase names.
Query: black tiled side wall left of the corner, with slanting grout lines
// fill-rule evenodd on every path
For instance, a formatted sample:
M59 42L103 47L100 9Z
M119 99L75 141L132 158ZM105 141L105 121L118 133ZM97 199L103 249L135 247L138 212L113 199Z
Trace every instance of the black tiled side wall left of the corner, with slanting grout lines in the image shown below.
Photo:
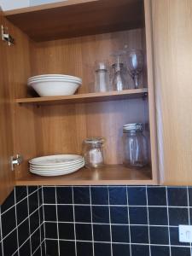
M0 256L45 256L42 187L15 187L0 207Z

